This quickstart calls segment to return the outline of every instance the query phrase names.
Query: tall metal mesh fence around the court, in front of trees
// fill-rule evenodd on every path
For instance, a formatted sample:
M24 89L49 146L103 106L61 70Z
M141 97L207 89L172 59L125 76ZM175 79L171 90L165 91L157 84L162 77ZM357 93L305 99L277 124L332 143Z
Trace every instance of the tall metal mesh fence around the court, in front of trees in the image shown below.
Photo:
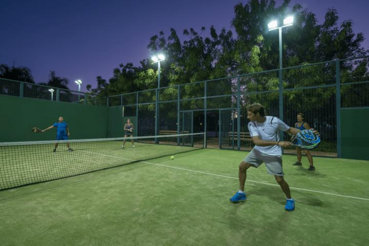
M369 107L368 64L369 56L355 57L109 98L61 89L51 97L50 87L0 79L0 94L123 106L125 116L137 117L138 136L163 131L206 132L208 148L237 150L253 147L248 137L247 106L260 103L268 115L281 118L290 127L295 126L297 114L303 113L304 122L322 136L322 144L313 154L339 156L340 110ZM287 134L282 137L290 139ZM287 148L285 153L295 150Z

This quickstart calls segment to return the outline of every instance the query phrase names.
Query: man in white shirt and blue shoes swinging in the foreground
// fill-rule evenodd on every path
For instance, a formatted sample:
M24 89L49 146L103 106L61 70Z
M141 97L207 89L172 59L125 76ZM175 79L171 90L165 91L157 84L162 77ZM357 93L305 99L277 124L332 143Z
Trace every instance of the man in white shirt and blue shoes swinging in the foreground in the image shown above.
M293 211L295 209L295 201L291 197L288 183L283 178L281 149L281 147L290 146L291 142L279 141L279 131L296 135L300 130L287 126L277 117L265 116L265 110L261 104L253 104L247 109L248 119L251 121L248 127L255 147L239 165L239 191L230 200L233 202L246 200L246 195L243 191L246 171L250 167L257 168L264 162L268 173L275 176L276 181L286 195L287 203L284 209ZM315 133L317 132L315 131Z

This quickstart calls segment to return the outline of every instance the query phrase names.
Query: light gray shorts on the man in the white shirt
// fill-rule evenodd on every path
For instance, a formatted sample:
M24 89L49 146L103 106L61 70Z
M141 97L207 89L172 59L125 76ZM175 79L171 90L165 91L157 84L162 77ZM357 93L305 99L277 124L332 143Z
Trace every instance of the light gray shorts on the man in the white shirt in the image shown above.
M259 167L264 162L269 174L275 176L284 175L282 170L282 155L267 155L252 149L243 161L250 163L254 168Z

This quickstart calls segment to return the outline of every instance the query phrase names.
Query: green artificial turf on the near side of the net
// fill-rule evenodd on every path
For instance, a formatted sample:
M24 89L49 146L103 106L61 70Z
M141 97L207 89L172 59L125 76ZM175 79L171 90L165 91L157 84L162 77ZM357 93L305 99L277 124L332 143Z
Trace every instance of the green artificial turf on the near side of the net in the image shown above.
M0 192L0 245L365 245L369 161L283 156L296 209L248 152L203 149Z

